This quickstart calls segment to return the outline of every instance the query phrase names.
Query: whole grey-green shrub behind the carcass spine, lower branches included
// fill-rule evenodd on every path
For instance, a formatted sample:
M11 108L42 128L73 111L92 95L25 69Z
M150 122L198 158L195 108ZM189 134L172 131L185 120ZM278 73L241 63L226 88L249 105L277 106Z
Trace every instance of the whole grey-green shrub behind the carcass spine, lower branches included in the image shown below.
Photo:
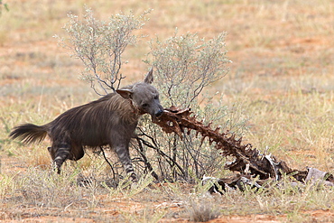
M222 125L224 129L233 126L231 132L241 133L245 128L244 120L238 120L239 116L233 120L227 118L231 113L221 100L216 108L212 106L212 94L203 95L206 87L227 74L230 61L226 57L224 41L225 33L209 41L199 39L196 33L175 33L166 41L158 38L152 41L149 58L145 62L154 68L157 79L163 80L157 82L157 87L164 107L191 107L202 119ZM144 170L152 172L155 169L158 172L155 176L160 175L160 179L169 181L194 181L203 174L222 169L224 158L209 142L192 133L185 133L182 138L164 135L159 127L149 123L150 120L146 119L142 122L138 131L138 147L135 147L143 157ZM150 155L150 151L154 155Z

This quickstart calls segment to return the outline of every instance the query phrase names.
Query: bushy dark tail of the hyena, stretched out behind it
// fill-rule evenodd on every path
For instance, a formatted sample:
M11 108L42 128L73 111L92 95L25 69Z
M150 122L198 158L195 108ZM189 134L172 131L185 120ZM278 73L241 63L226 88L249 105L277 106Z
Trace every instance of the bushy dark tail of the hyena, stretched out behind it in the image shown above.
M47 135L45 125L23 124L14 127L14 130L9 135L12 139L18 138L25 144L41 143Z

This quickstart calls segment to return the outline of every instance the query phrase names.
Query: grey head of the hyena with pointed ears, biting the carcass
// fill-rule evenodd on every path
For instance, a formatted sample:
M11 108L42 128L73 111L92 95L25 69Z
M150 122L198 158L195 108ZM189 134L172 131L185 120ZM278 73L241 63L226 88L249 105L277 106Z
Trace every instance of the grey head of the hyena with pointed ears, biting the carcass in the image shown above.
M160 105L159 92L151 83L153 70L150 70L144 82L136 83L129 88L117 89L116 92L125 99L131 99L141 115L150 114L153 118L162 115L163 107Z

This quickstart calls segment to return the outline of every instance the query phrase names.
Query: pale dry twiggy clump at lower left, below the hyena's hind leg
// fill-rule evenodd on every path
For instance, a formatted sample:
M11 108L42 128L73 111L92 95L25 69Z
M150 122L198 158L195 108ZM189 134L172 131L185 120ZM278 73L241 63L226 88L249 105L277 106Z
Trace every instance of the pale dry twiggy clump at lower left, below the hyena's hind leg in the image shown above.
M45 208L67 207L87 208L95 206L93 185L80 187L77 183L78 173L56 174L38 168L29 169L17 179L16 196L25 205Z

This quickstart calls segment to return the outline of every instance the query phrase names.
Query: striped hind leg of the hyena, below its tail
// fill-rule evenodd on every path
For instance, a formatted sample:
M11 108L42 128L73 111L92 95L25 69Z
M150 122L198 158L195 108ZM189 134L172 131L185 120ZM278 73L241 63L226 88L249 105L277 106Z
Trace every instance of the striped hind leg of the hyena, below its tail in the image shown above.
M61 143L52 145L51 148L54 155L51 154L53 159L53 165L58 173L60 173L60 167L70 156L70 144Z

